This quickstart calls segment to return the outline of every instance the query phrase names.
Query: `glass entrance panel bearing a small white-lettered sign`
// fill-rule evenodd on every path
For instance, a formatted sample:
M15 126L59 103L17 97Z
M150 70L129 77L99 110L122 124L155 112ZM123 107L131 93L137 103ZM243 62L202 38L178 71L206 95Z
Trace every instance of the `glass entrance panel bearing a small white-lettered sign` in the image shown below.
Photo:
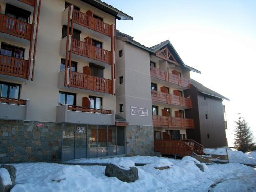
M75 159L86 158L86 125L75 127Z

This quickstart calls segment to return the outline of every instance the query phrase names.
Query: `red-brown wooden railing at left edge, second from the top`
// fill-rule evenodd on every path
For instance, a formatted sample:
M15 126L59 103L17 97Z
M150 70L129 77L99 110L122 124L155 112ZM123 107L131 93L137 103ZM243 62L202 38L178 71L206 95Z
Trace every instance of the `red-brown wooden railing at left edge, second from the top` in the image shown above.
M0 74L27 78L29 62L5 55L0 55Z

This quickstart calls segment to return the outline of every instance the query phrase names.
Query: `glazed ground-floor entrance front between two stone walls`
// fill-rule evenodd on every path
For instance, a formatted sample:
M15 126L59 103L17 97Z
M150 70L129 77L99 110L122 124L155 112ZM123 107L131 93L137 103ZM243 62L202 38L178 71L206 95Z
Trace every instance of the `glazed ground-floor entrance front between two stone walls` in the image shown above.
M63 124L62 161L125 154L122 126Z

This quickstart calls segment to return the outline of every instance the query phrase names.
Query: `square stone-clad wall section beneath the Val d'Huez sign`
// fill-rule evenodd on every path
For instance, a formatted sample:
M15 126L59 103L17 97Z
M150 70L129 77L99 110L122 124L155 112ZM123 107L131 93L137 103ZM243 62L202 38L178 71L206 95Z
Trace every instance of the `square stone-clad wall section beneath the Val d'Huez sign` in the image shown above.
M153 126L129 125L126 127L127 156L153 155Z

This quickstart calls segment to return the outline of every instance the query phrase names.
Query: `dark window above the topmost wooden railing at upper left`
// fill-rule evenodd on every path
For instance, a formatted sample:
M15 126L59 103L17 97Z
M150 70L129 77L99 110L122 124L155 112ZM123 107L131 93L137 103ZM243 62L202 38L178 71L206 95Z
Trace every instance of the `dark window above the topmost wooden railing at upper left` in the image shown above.
M25 23L28 23L31 12L26 11L24 9L20 9L10 4L6 4L5 15L18 20L22 20ZM14 25L14 24L8 24L8 25Z

